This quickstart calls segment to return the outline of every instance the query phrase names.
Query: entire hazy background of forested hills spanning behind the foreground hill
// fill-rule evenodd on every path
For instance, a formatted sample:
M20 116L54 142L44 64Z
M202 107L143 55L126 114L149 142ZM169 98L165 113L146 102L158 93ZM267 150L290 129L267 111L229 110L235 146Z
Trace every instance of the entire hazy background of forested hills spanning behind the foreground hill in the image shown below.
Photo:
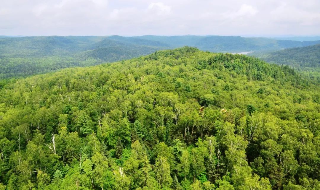
M121 61L185 45L212 52L275 51L319 44L240 36L33 36L0 38L0 79Z

